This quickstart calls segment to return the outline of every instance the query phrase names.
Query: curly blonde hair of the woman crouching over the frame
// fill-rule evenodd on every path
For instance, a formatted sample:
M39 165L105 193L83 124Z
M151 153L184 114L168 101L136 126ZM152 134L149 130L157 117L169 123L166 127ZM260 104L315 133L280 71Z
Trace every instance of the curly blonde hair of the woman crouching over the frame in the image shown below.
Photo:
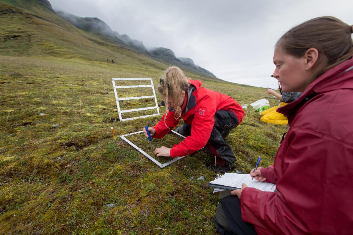
M165 97L164 103L166 104L166 116L168 114L168 102L172 102L175 109L174 118L179 119L181 116L181 107L179 104L182 92L189 89L189 79L184 75L180 68L171 66L164 70L163 79L160 80L158 85L158 92ZM170 99L170 101L169 101ZM165 119L164 119L165 122Z

